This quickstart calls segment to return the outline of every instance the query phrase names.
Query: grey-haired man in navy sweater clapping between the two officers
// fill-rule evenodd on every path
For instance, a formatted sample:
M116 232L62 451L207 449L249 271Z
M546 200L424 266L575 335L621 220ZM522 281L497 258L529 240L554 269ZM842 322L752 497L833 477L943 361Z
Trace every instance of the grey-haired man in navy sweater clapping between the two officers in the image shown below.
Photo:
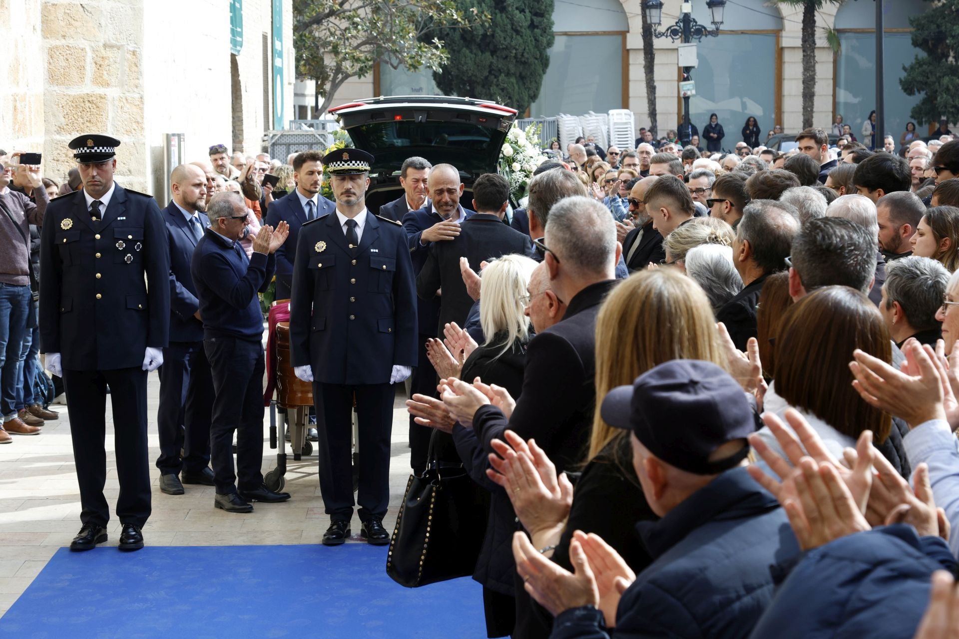
M260 227L253 254L240 239L246 231L246 204L239 194L221 193L206 207L210 226L197 242L190 273L203 318L203 352L210 362L215 398L210 422L215 508L250 513L251 501L279 502L289 492L263 483L263 311L257 292L267 290L276 268L273 254L287 240L288 226ZM233 433L237 435L236 472Z

